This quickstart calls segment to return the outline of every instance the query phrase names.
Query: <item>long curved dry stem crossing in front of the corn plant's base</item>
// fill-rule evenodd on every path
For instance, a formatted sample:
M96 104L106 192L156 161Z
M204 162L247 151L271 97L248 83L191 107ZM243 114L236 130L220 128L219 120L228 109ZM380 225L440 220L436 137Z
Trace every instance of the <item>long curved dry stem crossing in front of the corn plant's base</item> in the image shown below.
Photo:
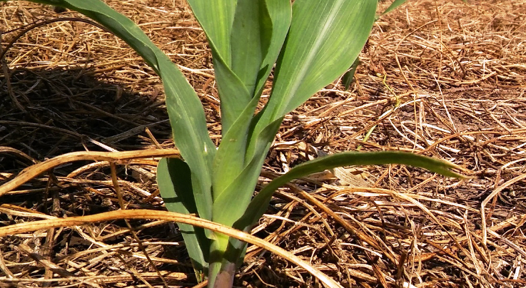
M320 272L318 269L315 269L307 262L303 261L299 257L283 250L276 245L273 245L265 240L262 240L258 237L250 235L246 232L242 232L231 227L226 227L215 222L208 220L203 220L198 217L191 215L184 215L176 212L168 211L156 211L156 210L118 210L111 212L104 212L96 215L80 216L80 217L68 217L68 218L56 218L49 220L39 220L33 222L25 222L16 225L10 225L6 227L0 227L0 237L7 235L15 235L18 233L26 233L36 230L47 230L50 228L56 227L67 227L67 226L76 226L76 225L85 225L93 222L109 221L109 220L122 220L122 219L156 219L156 220L168 220L173 222L180 222L189 225L194 225L197 227L202 227L208 230L213 230L215 232L220 232L229 237L234 237L238 240L251 243L258 247L262 247L265 250L273 252L280 255L284 259L287 259L290 262L302 267L307 270L314 277L318 278L325 286L333 288L342 286L335 282L335 280L328 277L323 272Z

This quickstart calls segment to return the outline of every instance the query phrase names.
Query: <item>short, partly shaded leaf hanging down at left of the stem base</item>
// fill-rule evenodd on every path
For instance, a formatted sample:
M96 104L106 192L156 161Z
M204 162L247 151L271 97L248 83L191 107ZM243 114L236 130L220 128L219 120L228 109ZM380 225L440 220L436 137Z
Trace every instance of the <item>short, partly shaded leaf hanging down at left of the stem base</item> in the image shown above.
M161 159L157 165L157 184L168 211L198 213L192 194L191 171L183 160ZM178 226L196 274L207 274L211 241L206 237L205 230L183 223Z

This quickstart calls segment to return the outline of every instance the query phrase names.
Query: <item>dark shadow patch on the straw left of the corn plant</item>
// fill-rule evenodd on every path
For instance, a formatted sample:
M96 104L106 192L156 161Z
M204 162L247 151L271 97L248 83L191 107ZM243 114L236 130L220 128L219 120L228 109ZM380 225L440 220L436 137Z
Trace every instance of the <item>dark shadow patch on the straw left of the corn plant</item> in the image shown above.
M73 151L151 148L152 138L171 138L164 101L123 91L91 71L16 68L9 84L0 80L0 146L36 160ZM0 158L2 171L30 164L15 153Z

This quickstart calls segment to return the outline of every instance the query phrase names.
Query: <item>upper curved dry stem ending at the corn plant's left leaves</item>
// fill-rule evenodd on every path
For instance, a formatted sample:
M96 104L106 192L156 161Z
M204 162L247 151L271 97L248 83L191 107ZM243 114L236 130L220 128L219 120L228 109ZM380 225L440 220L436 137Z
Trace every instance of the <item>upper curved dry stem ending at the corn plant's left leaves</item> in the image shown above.
M179 155L177 149L153 149L153 150L133 150L123 152L71 152L64 155L56 156L44 162L36 165L31 165L24 169L17 175L13 180L6 182L0 186L0 196L7 192L16 189L20 185L28 182L38 175L46 172L51 168L69 163L73 161L81 160L93 160L93 161L124 161L138 158L152 158L152 157L170 157Z

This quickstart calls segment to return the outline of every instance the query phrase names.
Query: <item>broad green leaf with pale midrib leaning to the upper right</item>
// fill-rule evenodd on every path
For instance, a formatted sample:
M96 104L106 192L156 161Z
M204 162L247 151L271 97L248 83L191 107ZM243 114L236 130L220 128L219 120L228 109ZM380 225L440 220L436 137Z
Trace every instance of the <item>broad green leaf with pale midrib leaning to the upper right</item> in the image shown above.
M253 119L246 162L266 154L275 137L262 133L355 61L373 26L376 1L295 0L293 20L276 63L268 104Z

